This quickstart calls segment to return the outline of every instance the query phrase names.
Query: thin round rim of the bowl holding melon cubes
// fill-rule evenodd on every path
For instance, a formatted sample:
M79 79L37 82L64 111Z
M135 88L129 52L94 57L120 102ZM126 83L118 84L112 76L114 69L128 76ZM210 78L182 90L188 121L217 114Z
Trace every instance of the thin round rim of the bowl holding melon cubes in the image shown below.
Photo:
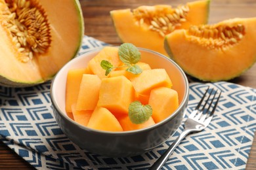
M116 46L116 47L118 47L118 46ZM51 101L52 101L52 105L53 105L54 109L56 109L58 111L58 114L60 114L60 116L62 118L65 118L66 120L68 120L68 122L70 122L72 124L75 124L75 126L78 126L81 129L85 129L85 131L90 131L91 133L106 134L106 135L132 135L132 134L135 134L135 133L142 133L143 131L151 131L153 129L156 129L156 128L162 126L163 124L167 124L167 122L169 122L169 120L174 118L181 111L181 109L183 109L183 107L185 107L184 105L186 105L186 103L188 101L189 84L188 84L188 78L187 78L186 74L184 73L184 71L181 69L181 67L177 63L175 63L175 61L173 61L170 58L167 58L166 56L164 56L163 54L161 54L159 52L155 52L153 50L149 50L149 49L146 49L146 48L137 47L139 50L144 50L146 52L151 52L153 54L156 54L156 55L160 56L163 59L167 59L167 61L169 61L173 65L175 65L175 67L177 67L177 69L179 69L179 71L181 72L181 75L182 75L182 77L184 79L185 92L184 92L184 97L183 97L183 99L181 101L181 104L179 105L178 109L176 109L175 112L173 112L173 114L171 114L170 116L168 116L167 118L165 118L161 122L158 122L157 124L154 124L153 126L145 127L143 129L131 130L131 131L102 131L102 130L92 129L92 128L83 126L83 125L75 122L71 118L69 118L68 115L65 114L64 112L62 112L61 109L58 107L58 104L56 103L56 99L55 99L55 97L53 95L53 86L54 86L54 82L56 80L56 77L58 75L60 75L62 70L65 69L65 67L67 67L68 65L71 65L73 62L75 62L75 60L77 60L79 58L82 58L82 57L86 57L89 54L92 54L92 53L95 53L95 52L99 52L100 50L102 50L102 48L104 48L104 46L102 46L101 48L95 48L94 50L91 50L89 52L85 52L84 54L81 54L80 56L77 56L74 59L68 61L68 63L66 63L60 69L60 71L58 71L58 73L54 76L54 78L53 78L53 80L51 82L51 89L50 89ZM186 110L184 110L184 113L185 112L186 112ZM184 116L184 113L183 113L183 116Z

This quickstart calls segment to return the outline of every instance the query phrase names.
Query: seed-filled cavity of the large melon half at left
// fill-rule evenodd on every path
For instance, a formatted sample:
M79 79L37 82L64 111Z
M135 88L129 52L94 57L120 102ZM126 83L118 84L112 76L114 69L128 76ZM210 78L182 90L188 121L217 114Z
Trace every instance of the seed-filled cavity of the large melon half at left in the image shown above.
M1 24L12 35L18 52L21 52L20 61L26 63L36 56L47 51L51 44L50 27L45 10L35 0L5 0L0 1Z

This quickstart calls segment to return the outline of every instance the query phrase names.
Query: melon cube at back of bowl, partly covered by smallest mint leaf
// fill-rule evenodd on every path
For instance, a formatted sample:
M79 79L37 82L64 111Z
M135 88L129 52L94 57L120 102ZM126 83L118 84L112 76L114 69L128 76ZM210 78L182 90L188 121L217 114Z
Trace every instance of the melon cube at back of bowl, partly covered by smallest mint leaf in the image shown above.
M114 67L120 65L121 60L119 59L118 48L106 46L88 63L89 69L93 71L95 75L98 75L99 78L106 78L106 70L102 69L100 66L102 60L109 61Z

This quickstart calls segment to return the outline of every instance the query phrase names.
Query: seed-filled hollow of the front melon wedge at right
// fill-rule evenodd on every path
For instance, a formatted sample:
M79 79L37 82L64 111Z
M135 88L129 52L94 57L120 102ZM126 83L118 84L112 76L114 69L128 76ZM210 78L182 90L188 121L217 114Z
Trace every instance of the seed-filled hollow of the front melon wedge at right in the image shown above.
M196 42L208 49L224 49L239 42L245 35L245 27L236 24L227 25L192 25L188 29L190 41Z

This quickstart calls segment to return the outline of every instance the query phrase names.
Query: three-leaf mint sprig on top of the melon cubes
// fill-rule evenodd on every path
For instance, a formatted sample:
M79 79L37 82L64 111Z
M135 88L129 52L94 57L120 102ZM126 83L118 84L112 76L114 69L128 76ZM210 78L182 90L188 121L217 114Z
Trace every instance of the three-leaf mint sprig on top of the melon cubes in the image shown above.
M136 46L131 43L123 43L118 48L118 55L119 59L125 64L120 67L127 67L126 71L129 71L135 75L142 73L142 69L139 67L139 65L136 65L136 63L138 63L141 58L140 52ZM112 71L113 68L119 68L114 67L112 63L106 60L102 60L100 62L100 66L102 69L106 70L106 76L110 73L110 71Z

